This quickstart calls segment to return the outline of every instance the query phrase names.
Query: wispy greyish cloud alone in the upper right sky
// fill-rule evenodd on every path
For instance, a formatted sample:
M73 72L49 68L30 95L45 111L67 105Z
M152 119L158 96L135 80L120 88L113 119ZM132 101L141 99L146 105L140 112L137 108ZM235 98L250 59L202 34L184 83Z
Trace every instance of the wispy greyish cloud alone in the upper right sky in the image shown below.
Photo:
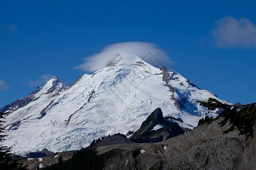
M210 34L214 37L216 45L223 47L256 47L256 26L246 18L232 18L225 16L216 20L216 28Z

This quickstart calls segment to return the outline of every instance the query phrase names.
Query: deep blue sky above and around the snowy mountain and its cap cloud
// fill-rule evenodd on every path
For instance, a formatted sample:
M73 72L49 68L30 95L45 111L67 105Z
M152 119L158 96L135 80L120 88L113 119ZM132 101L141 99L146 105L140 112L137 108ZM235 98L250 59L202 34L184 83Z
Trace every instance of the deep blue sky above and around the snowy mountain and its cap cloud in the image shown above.
M232 103L255 102L255 1L1 1L0 108L118 42L152 42L173 69ZM88 72L87 72L88 73Z

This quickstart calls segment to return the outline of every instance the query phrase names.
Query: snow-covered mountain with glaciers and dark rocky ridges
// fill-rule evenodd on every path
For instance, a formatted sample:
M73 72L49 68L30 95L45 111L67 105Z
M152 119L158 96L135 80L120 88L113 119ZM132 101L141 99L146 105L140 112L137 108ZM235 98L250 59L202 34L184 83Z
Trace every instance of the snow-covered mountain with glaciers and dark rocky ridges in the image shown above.
M82 75L71 86L57 78L49 80L0 109L11 112L5 120L8 137L3 144L22 155L44 148L77 150L104 135L136 131L156 108L162 109L164 117L180 117L181 126L197 126L207 109L196 101L217 96L175 71L152 65L133 54L119 53L104 68ZM209 115L217 116L216 112Z

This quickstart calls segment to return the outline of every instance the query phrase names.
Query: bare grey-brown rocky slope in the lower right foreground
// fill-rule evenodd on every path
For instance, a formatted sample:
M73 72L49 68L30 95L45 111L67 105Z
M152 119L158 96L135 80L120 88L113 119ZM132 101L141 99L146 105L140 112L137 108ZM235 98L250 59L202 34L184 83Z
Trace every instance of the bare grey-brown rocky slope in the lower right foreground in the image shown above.
M256 140L246 141L238 131L223 135L228 125L221 129L218 125L221 120L164 142L97 147L97 153L118 150L105 164L105 169L254 169ZM140 150L145 152L134 155Z

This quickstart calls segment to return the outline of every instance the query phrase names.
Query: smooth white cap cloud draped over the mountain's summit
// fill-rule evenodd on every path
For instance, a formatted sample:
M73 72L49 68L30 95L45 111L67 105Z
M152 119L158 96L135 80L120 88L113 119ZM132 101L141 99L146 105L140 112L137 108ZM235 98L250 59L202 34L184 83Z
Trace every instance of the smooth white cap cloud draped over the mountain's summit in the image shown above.
M92 56L85 57L84 63L75 67L82 71L97 71L106 66L117 53L129 53L134 54L140 58L146 56L150 52L160 62L164 63L168 67L170 60L167 57L166 52L157 48L157 45L148 42L121 42L106 46L100 53L96 53Z

